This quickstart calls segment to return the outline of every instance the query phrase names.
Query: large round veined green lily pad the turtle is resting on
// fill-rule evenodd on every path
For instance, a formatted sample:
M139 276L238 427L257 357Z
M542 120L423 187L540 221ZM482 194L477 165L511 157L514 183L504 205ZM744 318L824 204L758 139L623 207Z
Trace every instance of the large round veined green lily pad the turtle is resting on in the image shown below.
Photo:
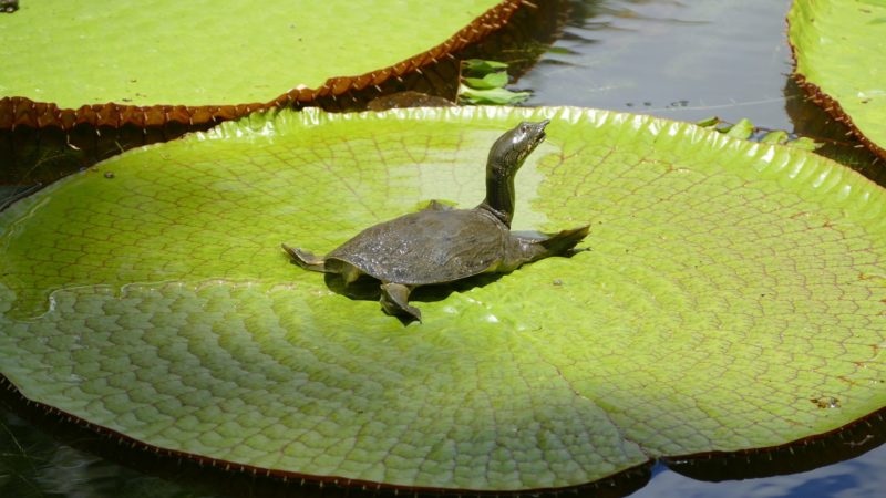
M518 229L591 249L403 326L279 250L429 199L550 117ZM0 214L0 372L138 445L405 488L577 486L886 406L886 191L814 154L577 108L270 113L123 154Z

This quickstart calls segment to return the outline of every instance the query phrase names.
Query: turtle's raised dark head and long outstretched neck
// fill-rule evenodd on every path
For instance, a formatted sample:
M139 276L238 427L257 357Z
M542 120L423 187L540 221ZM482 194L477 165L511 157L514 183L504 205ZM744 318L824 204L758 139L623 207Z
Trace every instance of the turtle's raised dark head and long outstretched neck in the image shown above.
M486 198L477 206L494 214L508 228L514 217L514 176L526 157L545 139L545 126L524 121L498 137L486 162Z

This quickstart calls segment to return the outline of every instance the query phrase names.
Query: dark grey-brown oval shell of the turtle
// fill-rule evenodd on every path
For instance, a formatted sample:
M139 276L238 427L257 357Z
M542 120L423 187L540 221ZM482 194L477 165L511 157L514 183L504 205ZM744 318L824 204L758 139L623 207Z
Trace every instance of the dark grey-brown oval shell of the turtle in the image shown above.
M424 210L367 228L327 255L393 283L451 282L495 270L511 231L484 209Z

